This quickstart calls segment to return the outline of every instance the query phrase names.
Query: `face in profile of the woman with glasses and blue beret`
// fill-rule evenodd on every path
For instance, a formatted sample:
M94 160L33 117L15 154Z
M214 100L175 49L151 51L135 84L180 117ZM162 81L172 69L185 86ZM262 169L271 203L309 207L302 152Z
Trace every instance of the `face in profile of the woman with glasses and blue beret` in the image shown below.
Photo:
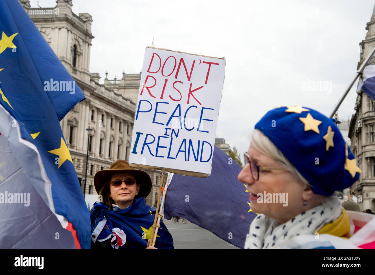
M252 144L250 144L248 154L249 159L258 166L282 168L278 161L260 153ZM272 169L259 171L259 179L256 181L248 163L238 175L238 179L247 184L251 209L255 213L263 213L267 217L284 223L303 212L302 192L306 184L300 183L291 172ZM264 198L264 191L266 198ZM259 193L261 193L260 197L257 197ZM267 200L267 197L271 199Z

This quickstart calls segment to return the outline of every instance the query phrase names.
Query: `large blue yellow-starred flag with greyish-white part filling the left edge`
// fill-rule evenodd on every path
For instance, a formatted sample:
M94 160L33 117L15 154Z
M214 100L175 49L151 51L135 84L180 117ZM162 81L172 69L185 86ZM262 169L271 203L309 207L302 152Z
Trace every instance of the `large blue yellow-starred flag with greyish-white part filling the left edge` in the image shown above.
M0 18L0 248L90 248L59 123L84 94L17 0Z

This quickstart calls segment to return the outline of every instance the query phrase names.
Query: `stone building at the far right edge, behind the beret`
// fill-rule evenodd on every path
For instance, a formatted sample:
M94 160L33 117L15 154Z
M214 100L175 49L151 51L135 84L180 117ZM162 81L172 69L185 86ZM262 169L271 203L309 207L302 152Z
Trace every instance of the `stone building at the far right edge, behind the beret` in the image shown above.
M370 22L366 25L366 39L360 42L358 68L375 46L375 7ZM373 57L369 64L375 64ZM358 197L361 211L375 211L375 110L374 100L364 91L357 91L357 100L349 126L351 149L362 170L359 180L350 188L350 194ZM362 202L361 202L362 200Z

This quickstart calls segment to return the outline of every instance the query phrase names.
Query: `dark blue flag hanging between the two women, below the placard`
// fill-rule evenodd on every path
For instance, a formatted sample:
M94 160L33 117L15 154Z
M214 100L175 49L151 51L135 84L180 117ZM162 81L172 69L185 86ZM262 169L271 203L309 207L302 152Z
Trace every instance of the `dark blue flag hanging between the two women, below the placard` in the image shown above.
M237 179L240 171L241 167L215 146L212 171L207 178L178 174L171 178L169 175L169 184L164 191L164 218L184 217L243 248L257 213L251 210L246 185Z

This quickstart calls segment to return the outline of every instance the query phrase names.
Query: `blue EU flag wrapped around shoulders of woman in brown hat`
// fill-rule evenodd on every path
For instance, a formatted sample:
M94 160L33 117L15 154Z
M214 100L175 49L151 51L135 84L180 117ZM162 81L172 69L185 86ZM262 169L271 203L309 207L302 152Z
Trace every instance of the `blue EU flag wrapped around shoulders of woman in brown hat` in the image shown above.
M134 204L125 209L109 210L106 205L95 202L90 212L92 240L117 238L120 241L119 231L123 231L126 238L124 244L118 249L144 249L147 240L151 238L156 208L145 203L144 198L137 198ZM114 230L115 228L118 231ZM165 224L160 220L160 228L157 231L155 241L156 248L173 249L173 239Z

